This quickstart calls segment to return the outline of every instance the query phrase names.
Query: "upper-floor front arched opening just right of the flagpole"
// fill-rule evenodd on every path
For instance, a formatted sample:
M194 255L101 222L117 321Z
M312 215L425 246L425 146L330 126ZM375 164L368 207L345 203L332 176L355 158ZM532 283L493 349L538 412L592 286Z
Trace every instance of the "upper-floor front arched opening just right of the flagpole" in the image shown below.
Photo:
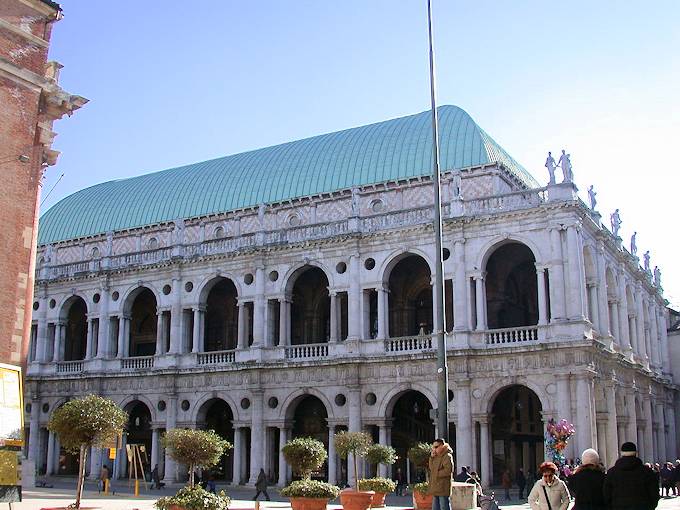
M486 306L489 329L538 324L536 259L526 245L504 244L489 257Z

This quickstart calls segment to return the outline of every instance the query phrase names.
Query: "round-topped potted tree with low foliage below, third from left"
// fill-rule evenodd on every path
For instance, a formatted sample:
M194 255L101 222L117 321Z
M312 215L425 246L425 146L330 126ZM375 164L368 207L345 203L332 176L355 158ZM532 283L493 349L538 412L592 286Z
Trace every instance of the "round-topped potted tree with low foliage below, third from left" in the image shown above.
M321 441L311 437L298 437L288 441L281 449L286 462L301 480L281 489L281 495L290 499L293 510L325 510L330 499L338 497L340 489L330 483L312 480L328 454Z

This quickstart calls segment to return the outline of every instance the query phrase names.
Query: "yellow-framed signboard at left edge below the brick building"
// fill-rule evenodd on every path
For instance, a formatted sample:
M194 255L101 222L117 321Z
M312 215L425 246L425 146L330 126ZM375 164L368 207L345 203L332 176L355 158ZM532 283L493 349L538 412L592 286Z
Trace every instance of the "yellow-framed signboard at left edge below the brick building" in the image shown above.
M21 501L24 400L21 368L0 363L0 502Z

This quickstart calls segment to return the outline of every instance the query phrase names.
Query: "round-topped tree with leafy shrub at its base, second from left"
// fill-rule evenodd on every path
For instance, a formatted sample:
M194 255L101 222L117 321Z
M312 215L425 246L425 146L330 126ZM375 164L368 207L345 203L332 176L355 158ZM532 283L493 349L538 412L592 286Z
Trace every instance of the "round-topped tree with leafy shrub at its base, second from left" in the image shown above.
M224 491L213 494L195 485L194 470L209 468L220 461L225 450L232 446L213 430L170 429L161 439L168 454L180 464L189 467L189 485L174 496L160 498L158 510L226 510L229 497Z

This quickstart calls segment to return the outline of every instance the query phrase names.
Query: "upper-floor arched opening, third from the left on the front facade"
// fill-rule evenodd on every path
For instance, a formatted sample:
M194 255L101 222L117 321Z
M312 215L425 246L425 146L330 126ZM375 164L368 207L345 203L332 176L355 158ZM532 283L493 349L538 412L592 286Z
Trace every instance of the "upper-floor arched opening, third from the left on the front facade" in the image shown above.
M206 299L205 350L236 349L238 343L238 293L234 282L220 278Z

